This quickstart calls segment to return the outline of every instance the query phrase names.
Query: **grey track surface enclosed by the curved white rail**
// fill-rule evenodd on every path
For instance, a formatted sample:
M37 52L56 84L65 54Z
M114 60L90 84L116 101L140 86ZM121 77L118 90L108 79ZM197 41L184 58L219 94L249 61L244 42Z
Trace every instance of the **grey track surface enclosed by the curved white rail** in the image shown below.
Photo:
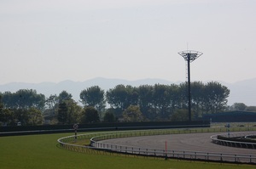
M189 133L189 134L171 134L158 136L143 136L133 138L114 138L101 141L107 144L118 144L125 146L152 148L152 149L167 149L184 150L184 151L202 151L202 152L217 152L229 154L244 154L256 155L256 149L241 149L227 147L218 144L212 144L212 135L218 133Z

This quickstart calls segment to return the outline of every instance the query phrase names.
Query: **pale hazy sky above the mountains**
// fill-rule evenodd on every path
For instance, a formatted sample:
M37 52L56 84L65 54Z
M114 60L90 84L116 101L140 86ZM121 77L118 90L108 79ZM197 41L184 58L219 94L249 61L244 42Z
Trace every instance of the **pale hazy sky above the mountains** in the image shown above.
M255 78L255 0L1 0L0 84Z

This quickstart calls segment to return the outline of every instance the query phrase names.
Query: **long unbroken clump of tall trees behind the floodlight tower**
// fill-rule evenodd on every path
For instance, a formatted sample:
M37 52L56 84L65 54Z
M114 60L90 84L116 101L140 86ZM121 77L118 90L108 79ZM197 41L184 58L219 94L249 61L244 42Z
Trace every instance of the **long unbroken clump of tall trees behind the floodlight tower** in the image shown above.
M193 118L225 110L229 94L230 90L218 82L192 82ZM188 83L140 87L117 85L107 91L106 98L114 109L124 111L129 105L139 105L148 120L166 121L177 110L188 109Z

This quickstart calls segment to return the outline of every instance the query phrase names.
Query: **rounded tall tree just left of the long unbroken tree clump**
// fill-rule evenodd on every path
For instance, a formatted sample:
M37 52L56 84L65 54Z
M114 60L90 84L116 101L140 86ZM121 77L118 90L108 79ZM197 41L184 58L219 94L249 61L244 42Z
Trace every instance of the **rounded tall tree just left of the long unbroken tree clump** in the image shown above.
M92 106L102 112L106 107L104 90L98 86L88 87L80 93L80 99L84 106Z

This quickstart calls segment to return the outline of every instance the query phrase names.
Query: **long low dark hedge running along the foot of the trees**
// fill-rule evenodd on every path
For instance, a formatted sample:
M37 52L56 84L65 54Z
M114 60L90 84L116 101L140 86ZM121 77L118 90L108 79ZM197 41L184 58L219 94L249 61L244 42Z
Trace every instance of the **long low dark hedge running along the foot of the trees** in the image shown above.
M150 129L150 128L180 128L180 127L210 127L210 121L150 121L150 122L117 122L117 123L91 123L79 124L78 131L103 131L125 129ZM73 125L42 125L42 126L16 126L0 127L3 132L73 132Z

